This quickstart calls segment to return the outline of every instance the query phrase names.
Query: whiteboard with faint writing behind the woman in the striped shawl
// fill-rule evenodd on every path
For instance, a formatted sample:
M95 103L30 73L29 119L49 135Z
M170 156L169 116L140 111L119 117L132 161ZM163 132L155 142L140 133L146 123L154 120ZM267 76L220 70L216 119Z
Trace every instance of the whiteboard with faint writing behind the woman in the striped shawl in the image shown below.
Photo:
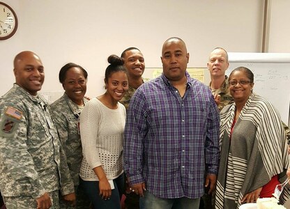
M290 53L229 52L229 75L240 66L254 73L253 91L271 102L289 125L290 109Z

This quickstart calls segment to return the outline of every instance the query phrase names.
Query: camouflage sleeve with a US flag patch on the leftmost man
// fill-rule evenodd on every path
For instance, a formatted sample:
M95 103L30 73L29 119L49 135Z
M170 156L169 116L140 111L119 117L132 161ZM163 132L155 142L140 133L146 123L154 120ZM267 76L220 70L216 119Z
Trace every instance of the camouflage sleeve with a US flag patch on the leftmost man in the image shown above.
M17 109L10 109L12 116L4 114L9 108L11 107L3 109L0 118L0 158L1 172L3 172L1 175L9 179L9 183L6 182L5 184L5 189L10 191L20 189L23 190L20 192L32 192L31 196L37 199L46 191L26 145L26 132L29 123L21 111L18 115L13 114L13 111L17 111ZM30 183L30 185L27 185L27 183Z

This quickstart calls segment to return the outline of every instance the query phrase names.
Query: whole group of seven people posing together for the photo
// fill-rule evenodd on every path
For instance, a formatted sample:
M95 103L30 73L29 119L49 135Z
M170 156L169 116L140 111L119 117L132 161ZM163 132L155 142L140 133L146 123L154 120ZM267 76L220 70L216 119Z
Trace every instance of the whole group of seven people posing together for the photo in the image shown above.
M181 38L162 46L163 72L147 81L136 47L108 57L105 93L87 99L88 73L64 65L65 93L47 104L33 52L15 56L0 98L0 190L6 208L238 208L290 178L287 137L245 67L229 77L226 50L208 59L209 86L186 71ZM124 172L125 171L125 172ZM211 195L213 194L213 196ZM284 203L290 189L284 189Z

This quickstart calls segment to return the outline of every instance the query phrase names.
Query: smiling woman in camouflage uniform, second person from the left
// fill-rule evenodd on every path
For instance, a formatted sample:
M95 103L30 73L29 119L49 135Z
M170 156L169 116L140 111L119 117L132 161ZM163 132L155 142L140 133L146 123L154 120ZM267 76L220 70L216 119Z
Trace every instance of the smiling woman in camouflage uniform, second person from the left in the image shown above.
M70 74L68 73L70 70ZM70 75L73 75L70 77ZM75 63L68 63L59 72L59 82L66 91L63 96L56 100L52 107L52 114L59 137L66 153L70 176L75 185L75 206L60 200L61 208L86 209L90 208L89 198L84 194L82 185L79 185L79 168L82 163L82 142L79 133L79 116L82 108L88 102L84 95L86 93L87 72ZM71 98L70 98L71 97ZM76 102L79 102L78 105Z

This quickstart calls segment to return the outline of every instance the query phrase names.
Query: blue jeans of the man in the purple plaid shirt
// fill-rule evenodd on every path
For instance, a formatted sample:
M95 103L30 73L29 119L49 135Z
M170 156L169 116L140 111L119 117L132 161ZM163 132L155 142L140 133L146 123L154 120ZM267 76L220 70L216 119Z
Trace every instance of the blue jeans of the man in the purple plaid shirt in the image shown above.
M189 199L181 197L176 199L163 199L144 191L144 197L140 198L142 209L198 209L200 198Z

